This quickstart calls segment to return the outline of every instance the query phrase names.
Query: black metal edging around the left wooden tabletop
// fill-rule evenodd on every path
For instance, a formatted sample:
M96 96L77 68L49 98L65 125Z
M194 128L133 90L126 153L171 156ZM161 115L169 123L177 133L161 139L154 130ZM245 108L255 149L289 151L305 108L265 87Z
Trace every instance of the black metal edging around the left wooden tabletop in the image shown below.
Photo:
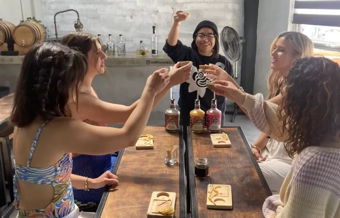
M148 125L148 126L159 126L160 125ZM164 130L165 131L165 130ZM180 212L179 212L179 217L180 218L187 218L187 198L186 198L186 193L187 193L187 183L186 183L186 175L185 175L185 144L184 144L184 136L183 136L183 126L180 125L179 126L179 132L178 132L178 145L179 145L179 158L180 158L180 164L179 164L179 198L180 198ZM120 164L120 160L121 157L123 156L124 150L119 151L116 163L115 163L115 167L112 169L112 173L116 174L119 164ZM98 209L96 211L96 214L94 216L94 218L100 218L102 216L102 212L104 210L104 206L107 200L107 197L109 195L109 191L110 191L111 187L106 187L104 190L104 193L102 195L102 199L101 202L98 205ZM181 194L183 193L183 194Z

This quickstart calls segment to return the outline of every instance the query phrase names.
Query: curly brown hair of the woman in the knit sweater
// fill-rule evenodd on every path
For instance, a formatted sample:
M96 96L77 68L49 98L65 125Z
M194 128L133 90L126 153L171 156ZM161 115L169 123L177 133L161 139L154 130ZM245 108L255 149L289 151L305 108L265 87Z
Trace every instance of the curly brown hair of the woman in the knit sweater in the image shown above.
M340 135L340 67L323 57L297 60L285 78L286 92L278 108L287 134L290 157L326 137Z

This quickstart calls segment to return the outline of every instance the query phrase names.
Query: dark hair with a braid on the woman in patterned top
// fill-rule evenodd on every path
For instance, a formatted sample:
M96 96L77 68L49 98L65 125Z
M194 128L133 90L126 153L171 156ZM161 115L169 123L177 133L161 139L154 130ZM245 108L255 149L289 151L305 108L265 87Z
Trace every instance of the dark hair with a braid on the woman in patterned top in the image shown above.
M66 105L78 92L87 71L85 56L57 42L37 44L24 58L14 93L11 122L30 125L36 117L44 121L71 117Z

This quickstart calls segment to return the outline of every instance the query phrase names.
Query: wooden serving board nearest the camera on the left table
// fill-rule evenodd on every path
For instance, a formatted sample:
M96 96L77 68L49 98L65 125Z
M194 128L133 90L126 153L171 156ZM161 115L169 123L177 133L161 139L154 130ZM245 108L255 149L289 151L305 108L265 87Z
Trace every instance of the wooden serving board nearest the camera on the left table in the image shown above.
M170 199L170 200L169 200ZM168 200L168 201L167 201ZM164 192L154 191L151 195L151 200L148 208L148 218L173 218L173 215L162 215L159 210L162 208L170 207L175 210L176 193L175 192Z

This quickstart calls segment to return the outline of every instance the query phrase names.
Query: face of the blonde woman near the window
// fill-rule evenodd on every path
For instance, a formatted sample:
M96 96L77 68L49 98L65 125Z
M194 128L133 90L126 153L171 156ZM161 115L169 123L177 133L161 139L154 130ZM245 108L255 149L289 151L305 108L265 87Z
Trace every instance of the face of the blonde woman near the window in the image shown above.
M288 40L285 37L280 37L272 47L272 70L288 73L296 59Z

